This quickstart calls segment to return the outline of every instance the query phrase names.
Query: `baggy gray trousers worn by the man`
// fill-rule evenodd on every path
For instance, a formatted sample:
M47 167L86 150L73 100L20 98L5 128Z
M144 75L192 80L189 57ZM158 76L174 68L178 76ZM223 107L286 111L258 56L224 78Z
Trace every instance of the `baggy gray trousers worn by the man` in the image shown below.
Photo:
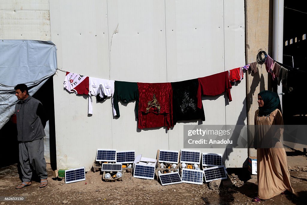
M19 162L23 182L30 182L32 168L40 179L47 179L46 160L44 157L44 138L32 142L19 143Z

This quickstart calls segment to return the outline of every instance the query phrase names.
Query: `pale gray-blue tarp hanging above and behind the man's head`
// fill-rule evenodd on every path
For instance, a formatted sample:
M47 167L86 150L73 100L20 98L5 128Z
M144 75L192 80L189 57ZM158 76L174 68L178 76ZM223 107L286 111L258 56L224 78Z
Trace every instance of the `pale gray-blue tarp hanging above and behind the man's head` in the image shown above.
M56 72L51 41L0 40L0 129L14 114L14 86L24 83L33 95Z

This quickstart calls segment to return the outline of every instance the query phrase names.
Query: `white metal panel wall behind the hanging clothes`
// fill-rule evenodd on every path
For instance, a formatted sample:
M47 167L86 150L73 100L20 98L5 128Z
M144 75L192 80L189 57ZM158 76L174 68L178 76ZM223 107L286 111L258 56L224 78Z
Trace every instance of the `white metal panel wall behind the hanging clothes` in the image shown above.
M172 82L245 63L244 0L52 0L49 10L58 68L70 72ZM231 90L230 103L224 95L203 97L206 121L177 123L167 131L138 129L134 103L119 103L121 116L114 119L111 100L96 103L93 98L93 115L88 116L87 98L65 91L64 77L63 72L53 77L57 168L89 170L97 148L133 149L155 158L157 149L183 148L184 124L247 122L245 79ZM223 154L227 167L242 167L247 158L247 149L201 151Z

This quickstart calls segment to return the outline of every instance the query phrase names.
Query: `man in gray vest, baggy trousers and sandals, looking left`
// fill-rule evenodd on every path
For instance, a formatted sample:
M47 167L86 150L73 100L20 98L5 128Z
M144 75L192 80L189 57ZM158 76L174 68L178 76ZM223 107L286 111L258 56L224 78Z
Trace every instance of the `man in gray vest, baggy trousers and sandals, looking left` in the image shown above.
M22 174L22 183L16 189L31 185L32 169L41 179L39 187L43 188L48 183L44 157L44 136L46 136L44 128L47 120L43 112L43 105L29 95L28 87L25 84L18 84L14 89L19 100L15 105L15 113Z

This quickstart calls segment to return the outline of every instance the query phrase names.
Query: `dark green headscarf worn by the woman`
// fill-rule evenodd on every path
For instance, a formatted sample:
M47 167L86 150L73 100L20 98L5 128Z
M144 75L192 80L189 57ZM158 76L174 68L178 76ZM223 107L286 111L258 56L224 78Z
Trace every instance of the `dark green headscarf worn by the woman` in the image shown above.
M263 107L259 107L259 116L270 115L275 109L280 108L280 100L277 93L269 90L261 91L258 95L262 97Z

